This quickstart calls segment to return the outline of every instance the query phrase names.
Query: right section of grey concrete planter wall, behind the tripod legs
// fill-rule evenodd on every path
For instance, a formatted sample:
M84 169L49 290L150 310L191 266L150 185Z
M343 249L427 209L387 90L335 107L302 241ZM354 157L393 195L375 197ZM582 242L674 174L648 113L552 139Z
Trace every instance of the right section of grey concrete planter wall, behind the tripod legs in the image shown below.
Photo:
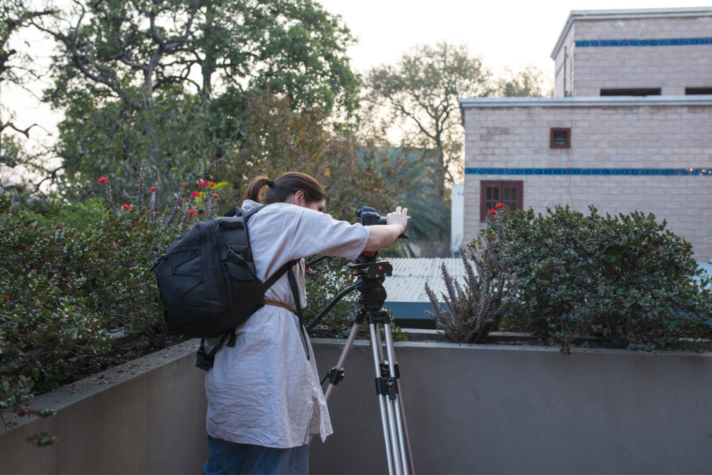
M339 352L319 346L317 361ZM711 354L399 343L396 356L419 473L709 473ZM365 343L345 368L310 471L384 473Z

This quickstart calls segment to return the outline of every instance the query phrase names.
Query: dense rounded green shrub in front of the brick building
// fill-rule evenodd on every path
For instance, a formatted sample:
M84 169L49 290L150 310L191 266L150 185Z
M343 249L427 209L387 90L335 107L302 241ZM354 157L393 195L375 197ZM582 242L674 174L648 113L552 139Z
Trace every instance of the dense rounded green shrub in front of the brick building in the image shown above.
M712 336L710 279L690 243L652 214L498 210L482 235L501 249L514 304L508 329L537 333L564 352L577 336L697 351Z

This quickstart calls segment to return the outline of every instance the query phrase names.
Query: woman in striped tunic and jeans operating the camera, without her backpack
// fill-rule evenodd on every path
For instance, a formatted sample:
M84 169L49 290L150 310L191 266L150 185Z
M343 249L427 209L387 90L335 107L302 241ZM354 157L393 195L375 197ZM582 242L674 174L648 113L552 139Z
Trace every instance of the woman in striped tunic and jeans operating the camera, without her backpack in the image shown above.
M407 209L400 207L387 215L386 225L351 225L331 218L323 213L323 186L299 172L274 181L255 178L244 198L245 213L259 203L269 205L249 220L255 267L263 281L286 262L303 257L355 260L362 251L389 245L407 227ZM306 301L304 269L304 260L294 267L301 307ZM324 440L333 432L287 275L267 290L265 300L235 330L236 345L221 348L206 373L206 474L307 473L310 435Z

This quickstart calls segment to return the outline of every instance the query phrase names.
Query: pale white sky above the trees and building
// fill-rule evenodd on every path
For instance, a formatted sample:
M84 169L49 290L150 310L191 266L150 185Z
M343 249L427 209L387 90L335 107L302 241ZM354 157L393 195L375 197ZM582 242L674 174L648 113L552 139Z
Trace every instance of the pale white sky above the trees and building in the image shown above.
M712 0L316 0L338 14L357 43L348 53L352 68L364 73L377 65L395 63L410 48L438 41L464 44L497 75L503 68L535 65L553 83L550 58L572 10L670 8L710 6ZM679 1L679 0L677 0ZM34 55L48 57L47 50ZM40 48L42 49L42 48ZM553 84L552 84L553 85ZM56 133L58 114L21 91L2 91L0 100L14 110L20 124L38 122ZM35 129L38 130L38 129ZM50 139L51 142L51 139Z

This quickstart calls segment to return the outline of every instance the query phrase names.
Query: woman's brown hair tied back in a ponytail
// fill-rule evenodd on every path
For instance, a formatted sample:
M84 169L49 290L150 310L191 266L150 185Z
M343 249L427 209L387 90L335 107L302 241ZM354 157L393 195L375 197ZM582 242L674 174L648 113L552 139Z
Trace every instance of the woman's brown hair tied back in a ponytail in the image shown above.
M264 186L269 188L260 193ZM258 176L247 187L243 199L265 205L284 203L290 195L300 190L304 192L304 199L307 203L326 199L326 190L321 186L321 183L300 171L288 171L278 176L276 180L270 180L266 176Z

